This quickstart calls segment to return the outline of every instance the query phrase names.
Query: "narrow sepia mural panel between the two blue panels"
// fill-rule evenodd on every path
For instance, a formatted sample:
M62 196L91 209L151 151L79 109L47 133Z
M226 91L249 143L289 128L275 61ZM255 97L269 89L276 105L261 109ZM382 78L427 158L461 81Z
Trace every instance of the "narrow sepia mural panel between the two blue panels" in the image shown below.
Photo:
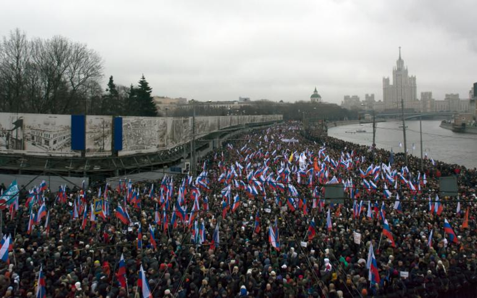
M111 116L86 116L86 155L111 155Z

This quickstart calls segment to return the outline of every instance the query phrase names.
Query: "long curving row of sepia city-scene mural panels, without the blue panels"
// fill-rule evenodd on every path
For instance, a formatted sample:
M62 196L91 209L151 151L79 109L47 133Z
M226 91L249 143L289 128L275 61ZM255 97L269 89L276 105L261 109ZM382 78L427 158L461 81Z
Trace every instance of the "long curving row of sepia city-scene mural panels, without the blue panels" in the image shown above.
M208 133L243 123L281 120L281 115L196 117L195 133ZM111 116L86 117L86 156L112 154ZM123 150L118 155L150 153L187 143L192 117L123 117ZM0 113L0 152L31 155L81 156L71 150L71 115Z

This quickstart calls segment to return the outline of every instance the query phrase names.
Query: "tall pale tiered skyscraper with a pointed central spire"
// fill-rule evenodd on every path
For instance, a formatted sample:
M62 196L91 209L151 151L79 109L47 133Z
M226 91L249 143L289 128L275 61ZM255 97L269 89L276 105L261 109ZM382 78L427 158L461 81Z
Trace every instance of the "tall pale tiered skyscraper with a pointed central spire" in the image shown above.
M396 66L392 68L392 85L389 77L382 78L382 98L384 109L401 109L401 99L404 100L405 108L413 108L416 97L416 76L408 76L408 67L404 66L399 47L399 58Z

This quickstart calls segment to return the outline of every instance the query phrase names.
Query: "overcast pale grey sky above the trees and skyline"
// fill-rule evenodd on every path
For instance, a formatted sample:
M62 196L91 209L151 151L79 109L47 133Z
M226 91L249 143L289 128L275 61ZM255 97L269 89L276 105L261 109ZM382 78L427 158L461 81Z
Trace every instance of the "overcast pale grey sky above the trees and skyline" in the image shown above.
M418 94L468 97L477 81L477 1L2 1L0 35L63 35L97 50L105 82L206 100L325 101L374 93L398 47Z

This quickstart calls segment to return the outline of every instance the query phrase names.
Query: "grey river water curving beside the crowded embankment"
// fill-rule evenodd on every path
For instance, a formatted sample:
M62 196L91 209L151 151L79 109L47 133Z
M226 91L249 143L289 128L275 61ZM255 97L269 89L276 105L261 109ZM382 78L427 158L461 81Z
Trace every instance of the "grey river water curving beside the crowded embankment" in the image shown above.
M454 133L439 127L440 121L422 121L423 155L451 164L477 167L477 135ZM406 121L408 153L421 155L419 120ZM376 146L393 152L404 152L403 127L401 121L376 123ZM357 129L366 132L356 133ZM371 145L373 140L372 123L344 125L328 129L328 135L341 140ZM399 144L403 146L400 147ZM414 150L413 150L414 144Z

